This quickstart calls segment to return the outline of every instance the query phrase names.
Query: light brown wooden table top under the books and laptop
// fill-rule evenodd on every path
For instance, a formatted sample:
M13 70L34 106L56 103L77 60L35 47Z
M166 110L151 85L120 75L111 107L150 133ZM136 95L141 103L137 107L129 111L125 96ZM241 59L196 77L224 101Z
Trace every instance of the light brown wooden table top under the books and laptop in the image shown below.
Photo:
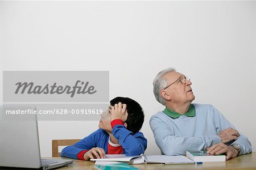
M53 158L54 159L54 158ZM68 159L59 158L56 159ZM163 164L133 164L134 167L139 169L256 169L256 152L247 155L241 155L237 158L230 159L226 162L205 162L203 164L180 164L180 165L163 165ZM64 169L97 169L94 163L83 160L73 160L73 164Z

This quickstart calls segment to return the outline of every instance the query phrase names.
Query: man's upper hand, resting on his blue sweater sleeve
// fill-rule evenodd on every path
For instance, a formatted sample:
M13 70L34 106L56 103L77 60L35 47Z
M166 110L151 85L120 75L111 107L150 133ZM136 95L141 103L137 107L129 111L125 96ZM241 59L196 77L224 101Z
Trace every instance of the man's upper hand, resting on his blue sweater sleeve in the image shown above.
M225 130L221 130L218 136L221 138L222 143L226 143L232 140L237 140L237 138L240 137L240 134L233 128L228 128Z

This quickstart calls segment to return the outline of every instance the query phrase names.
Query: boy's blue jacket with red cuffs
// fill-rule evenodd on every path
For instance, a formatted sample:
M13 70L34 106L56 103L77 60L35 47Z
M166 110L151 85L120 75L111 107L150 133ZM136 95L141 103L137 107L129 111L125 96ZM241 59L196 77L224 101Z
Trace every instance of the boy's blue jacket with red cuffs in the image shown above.
M147 139L141 132L133 135L133 132L127 130L124 125L115 125L112 133L123 147L123 154L126 156L141 155L147 148ZM90 150L93 147L103 148L105 153L108 150L109 134L102 129L98 129L88 137L81 139L72 146L67 146L61 151L61 156L77 159L77 154L84 150Z

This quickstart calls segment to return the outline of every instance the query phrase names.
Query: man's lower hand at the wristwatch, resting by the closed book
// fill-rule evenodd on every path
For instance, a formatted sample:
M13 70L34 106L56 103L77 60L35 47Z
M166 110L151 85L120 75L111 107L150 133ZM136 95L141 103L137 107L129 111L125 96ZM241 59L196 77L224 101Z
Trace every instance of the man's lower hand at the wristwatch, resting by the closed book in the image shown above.
M211 147L207 148L207 154L211 155L220 155L226 154L226 160L230 158L236 158L239 151L236 150L233 146L225 145L224 143L217 143Z

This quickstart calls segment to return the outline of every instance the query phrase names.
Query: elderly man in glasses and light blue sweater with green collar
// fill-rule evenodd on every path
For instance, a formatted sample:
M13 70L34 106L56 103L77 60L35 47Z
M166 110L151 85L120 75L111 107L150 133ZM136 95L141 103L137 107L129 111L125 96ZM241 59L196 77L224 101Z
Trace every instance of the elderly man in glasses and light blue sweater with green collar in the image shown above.
M185 155L185 151L207 150L226 154L226 160L251 152L250 141L213 105L191 104L195 99L191 81L174 69L156 75L154 95L166 106L150 118L155 141L164 155Z

